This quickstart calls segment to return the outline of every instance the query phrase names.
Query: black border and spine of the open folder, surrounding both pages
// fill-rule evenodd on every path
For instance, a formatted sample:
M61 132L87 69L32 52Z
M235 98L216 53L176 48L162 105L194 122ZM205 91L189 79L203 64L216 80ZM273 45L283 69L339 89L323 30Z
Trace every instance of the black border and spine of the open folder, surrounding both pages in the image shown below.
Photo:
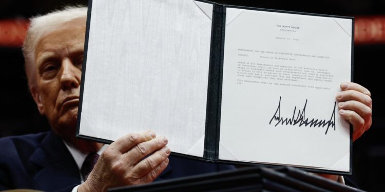
M199 161L205 161L210 163L223 163L223 164L233 164L233 165L250 165L250 166L269 166L269 167L283 167L287 165L275 165L268 163L254 163L254 162L238 162L238 161L228 161L228 160L219 160L219 134L220 134L220 113L221 113L221 96L222 96L222 79L223 79L223 59L224 59L224 34L225 34L225 15L226 8L237 8L237 9L248 9L248 10L257 10L257 11L267 11L267 12L278 12L278 13L288 13L288 14L300 14L300 15L311 15L311 16L323 16L323 17L335 17L335 18L345 18L352 19L352 53L351 53L351 81L353 82L353 60L354 60L354 17L350 16L336 16L336 15L325 15L317 13L305 13L305 12L295 12L295 11L284 11L284 10L274 10L274 9L264 9L264 8L252 8L252 7L243 7L243 6L232 6L232 5L220 5L214 2L209 2L205 0L196 0L199 2L213 4L213 24L211 27L211 42L210 42L210 59L209 59L209 75L208 75L208 85L207 85L207 108L206 108L206 127L205 127L205 140L204 140L204 155L203 158L171 152L171 155L178 157L187 157L190 159L195 159ZM84 42L84 59L82 66L82 78L81 78L81 87L80 87L80 98L79 98L79 108L78 108L78 123L76 125L76 138L87 139L91 141L96 141L105 144L111 144L113 141L107 139L101 139L96 137L80 135L80 121L82 114L82 103L83 103L83 92L84 92L84 83L85 83L85 74L86 74L86 63L87 63L87 50L88 50L88 39L89 39L89 30L91 24L91 11L92 11L92 0L88 1L88 10L87 10L87 22L86 22L86 34ZM222 11L222 15L218 15ZM216 28L220 27L220 29ZM217 32L217 35L213 32ZM219 34L218 34L219 33ZM220 40L218 39L220 37ZM219 44L219 45L218 45ZM220 54L214 54L213 51L218 49L218 46L221 47ZM218 55L220 58L218 58ZM215 74L217 73L217 74ZM214 102L208 102L214 101ZM211 110L210 110L211 109ZM217 109L217 110L215 110ZM215 118L215 116L217 118ZM212 118L211 118L212 117ZM210 120L208 120L208 118ZM211 129L210 129L211 127ZM215 130L213 130L215 129ZM213 141L215 143L213 143ZM310 168L310 167L301 167L293 166L308 172L313 173L324 173L324 174L335 174L335 175L352 175L352 162L353 162L353 126L350 125L350 170L349 172L341 172L337 170L327 170L319 168Z

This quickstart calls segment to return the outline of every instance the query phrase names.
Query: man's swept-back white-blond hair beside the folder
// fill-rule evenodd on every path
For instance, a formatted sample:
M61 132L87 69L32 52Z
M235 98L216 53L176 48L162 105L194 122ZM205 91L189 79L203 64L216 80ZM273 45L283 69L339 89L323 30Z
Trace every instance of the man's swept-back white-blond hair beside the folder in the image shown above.
M24 40L23 55L25 58L25 70L28 78L28 86L31 89L36 86L35 50L41 37L47 32L54 31L76 18L86 17L87 7L65 7L62 10L50 12L46 15L38 15L30 19L30 26Z

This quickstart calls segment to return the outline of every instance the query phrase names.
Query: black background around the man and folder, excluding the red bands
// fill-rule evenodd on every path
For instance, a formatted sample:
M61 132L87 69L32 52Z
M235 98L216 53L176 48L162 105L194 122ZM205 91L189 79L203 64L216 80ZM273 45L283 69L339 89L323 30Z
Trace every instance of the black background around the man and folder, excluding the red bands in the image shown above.
M327 0L327 1L251 1L217 0L220 4L240 5L320 14L365 16L385 15L385 1L379 0ZM87 1L57 0L1 0L2 19L29 18L44 14L65 5L87 5ZM384 29L382 29L385 33ZM381 191L382 173L385 172L384 107L382 71L385 44L356 45L354 49L354 82L368 88L373 99L373 125L362 138L353 144L354 182L364 190ZM28 92L24 72L24 58L20 48L0 46L0 137L49 130L44 117L38 114Z

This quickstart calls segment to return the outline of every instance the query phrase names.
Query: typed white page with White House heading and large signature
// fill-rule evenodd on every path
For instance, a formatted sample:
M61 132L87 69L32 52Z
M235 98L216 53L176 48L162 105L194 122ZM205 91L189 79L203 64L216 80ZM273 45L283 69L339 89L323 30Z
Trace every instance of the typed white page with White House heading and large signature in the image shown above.
M349 172L335 95L351 32L351 19L227 8L219 159Z

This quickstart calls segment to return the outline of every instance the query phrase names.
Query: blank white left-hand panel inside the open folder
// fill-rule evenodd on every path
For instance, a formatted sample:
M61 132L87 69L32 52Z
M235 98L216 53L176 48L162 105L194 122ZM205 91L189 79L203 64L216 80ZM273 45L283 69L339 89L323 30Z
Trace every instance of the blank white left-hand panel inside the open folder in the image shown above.
M213 5L93 0L80 135L153 130L203 156Z

